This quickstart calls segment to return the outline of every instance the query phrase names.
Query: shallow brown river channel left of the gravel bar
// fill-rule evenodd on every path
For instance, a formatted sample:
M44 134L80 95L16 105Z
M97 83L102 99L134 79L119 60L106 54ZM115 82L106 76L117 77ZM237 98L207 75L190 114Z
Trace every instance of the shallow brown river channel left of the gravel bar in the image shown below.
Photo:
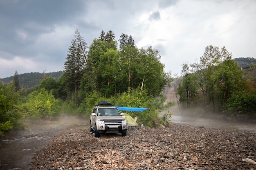
M58 132L88 124L89 120L83 118L63 116L54 122L38 122L26 130L5 134L0 138L0 170L28 170L34 153L58 136Z

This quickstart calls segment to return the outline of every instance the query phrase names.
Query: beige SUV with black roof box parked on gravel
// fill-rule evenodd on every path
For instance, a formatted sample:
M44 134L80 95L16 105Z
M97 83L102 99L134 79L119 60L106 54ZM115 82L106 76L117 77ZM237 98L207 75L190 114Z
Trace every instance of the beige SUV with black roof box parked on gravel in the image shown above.
M122 113L123 114L123 113ZM101 133L122 133L126 136L128 123L110 102L98 102L90 116L90 132L99 137Z

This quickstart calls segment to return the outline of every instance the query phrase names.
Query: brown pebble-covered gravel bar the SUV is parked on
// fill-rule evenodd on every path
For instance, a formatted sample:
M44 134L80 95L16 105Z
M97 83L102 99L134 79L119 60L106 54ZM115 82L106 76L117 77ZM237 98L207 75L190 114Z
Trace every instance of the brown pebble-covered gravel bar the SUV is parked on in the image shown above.
M36 152L31 170L256 170L256 133L175 124L95 138L64 130Z

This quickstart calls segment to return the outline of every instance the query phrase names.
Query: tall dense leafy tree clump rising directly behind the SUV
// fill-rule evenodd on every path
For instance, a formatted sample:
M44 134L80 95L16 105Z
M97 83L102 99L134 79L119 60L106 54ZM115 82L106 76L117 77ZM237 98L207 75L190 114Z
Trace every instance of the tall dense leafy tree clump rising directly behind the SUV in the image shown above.
M137 49L132 37L122 34L119 51L112 31L94 39L88 51L88 67L81 80L79 98L83 100L91 91L110 97L132 89L146 88L153 97L161 94L169 80L160 62L159 51L151 46ZM112 37L112 38L111 38ZM152 83L154 82L154 83Z

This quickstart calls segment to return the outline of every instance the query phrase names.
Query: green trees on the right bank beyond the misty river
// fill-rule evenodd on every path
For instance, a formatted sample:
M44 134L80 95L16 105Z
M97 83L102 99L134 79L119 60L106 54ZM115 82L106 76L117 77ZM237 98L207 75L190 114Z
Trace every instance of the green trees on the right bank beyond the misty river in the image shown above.
M237 117L255 115L254 93L249 90L254 85L249 86L225 46L207 46L200 63L184 64L182 73L177 88L182 108L204 108L207 113L226 112Z

